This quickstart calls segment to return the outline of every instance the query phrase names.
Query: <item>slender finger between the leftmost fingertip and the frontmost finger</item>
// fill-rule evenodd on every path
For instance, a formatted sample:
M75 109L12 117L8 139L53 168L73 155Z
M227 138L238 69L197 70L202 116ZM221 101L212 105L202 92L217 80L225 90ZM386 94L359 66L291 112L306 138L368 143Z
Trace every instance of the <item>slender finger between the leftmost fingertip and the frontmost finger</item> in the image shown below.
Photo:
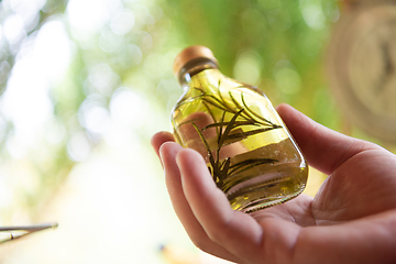
M239 262L239 258L224 250L221 245L210 241L200 223L194 216L182 187L179 168L175 157L183 147L176 143L166 142L160 148L160 156L164 164L165 182L173 208L184 226L188 237L201 250L219 257Z

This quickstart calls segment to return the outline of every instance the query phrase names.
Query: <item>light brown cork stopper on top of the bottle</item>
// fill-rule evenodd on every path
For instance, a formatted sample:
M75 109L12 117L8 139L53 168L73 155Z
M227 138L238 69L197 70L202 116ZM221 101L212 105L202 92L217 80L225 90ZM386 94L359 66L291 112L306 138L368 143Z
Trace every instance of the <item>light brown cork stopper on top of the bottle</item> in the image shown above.
M208 58L218 65L213 53L206 46L195 45L183 50L175 58L173 64L173 72L177 76L180 69L190 61L195 58Z

